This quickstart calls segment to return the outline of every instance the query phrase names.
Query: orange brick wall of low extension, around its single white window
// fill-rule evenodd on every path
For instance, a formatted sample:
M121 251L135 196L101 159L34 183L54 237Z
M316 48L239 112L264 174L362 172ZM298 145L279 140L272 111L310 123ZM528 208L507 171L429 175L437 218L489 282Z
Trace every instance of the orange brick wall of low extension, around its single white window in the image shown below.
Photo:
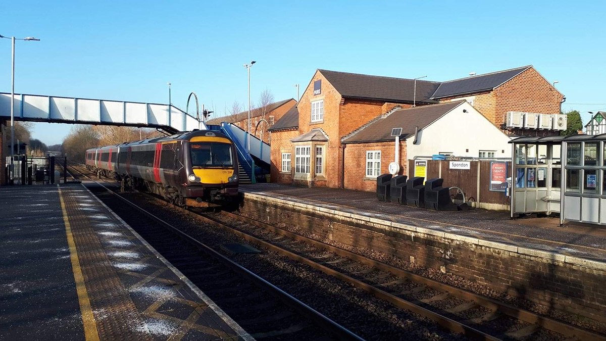
M395 141L382 143L349 143L345 147L345 181L347 189L376 191L376 177L366 177L367 150L381 150L380 174L388 173L388 167L395 160ZM400 141L400 175L406 174L406 142Z

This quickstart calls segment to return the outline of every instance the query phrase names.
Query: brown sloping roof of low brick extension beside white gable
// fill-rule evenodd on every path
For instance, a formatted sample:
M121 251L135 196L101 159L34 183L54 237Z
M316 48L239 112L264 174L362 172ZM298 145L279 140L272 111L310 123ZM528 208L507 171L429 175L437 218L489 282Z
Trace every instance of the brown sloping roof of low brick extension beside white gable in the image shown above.
M400 137L408 138L415 135L415 127L423 129L438 118L460 106L465 100L452 101L440 104L414 107L411 109L399 109L391 113L379 115L358 132L342 139L342 143L364 143L393 141L391 129L402 127Z

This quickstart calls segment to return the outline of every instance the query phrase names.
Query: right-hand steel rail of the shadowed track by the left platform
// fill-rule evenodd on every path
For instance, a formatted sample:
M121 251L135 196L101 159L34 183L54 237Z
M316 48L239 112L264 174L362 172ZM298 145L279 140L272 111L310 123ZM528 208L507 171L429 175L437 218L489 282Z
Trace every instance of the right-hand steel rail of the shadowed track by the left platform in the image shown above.
M74 168L74 167L72 166L72 168ZM85 175L84 173L82 173L82 172L80 172L80 173L82 175L84 175L84 177L87 177L87 175ZM338 337L338 339L340 339L340 340L364 340L361 337L357 336L356 334L352 333L350 330L348 330L344 326L341 326L338 323L336 323L335 321L329 319L327 316L324 316L324 314L322 314L321 312L316 311L315 309L311 308L310 306L308 306L305 303L301 302L300 300L296 299L295 297L293 297L292 295L283 291L282 289L278 288L277 286L262 279L261 277L256 275L254 272L251 272L250 270L244 268L243 266L239 265L238 263L233 262L233 260L225 257L225 255L222 255L218 251L215 251L215 249L211 248L210 246L205 245L204 243L197 240L196 238L191 237L190 235L181 231L180 229L176 228L175 226L170 225L170 223L167 223L166 221L162 220L162 218L157 217L156 215L152 214L151 212L149 212L143 208L140 208L137 204L133 203L132 201L128 200L127 198L122 197L121 195L112 191L111 189L108 189L108 187L105 187L103 184L99 183L98 181L95 181L90 177L87 177L87 178L89 180L93 181L94 183L98 184L99 186L104 187L104 189L106 191L115 195L116 197L118 197L125 203L129 204L133 208L144 213L145 215L148 215L148 217L153 218L154 220L158 221L162 225L171 229L173 232L180 235L186 241L192 243L193 245L197 246L198 248L200 248L200 249L204 250L205 252L207 252L208 254L212 255L217 260L219 260L219 262L223 263L224 265L229 266L233 271L246 275L249 279L251 279L253 282L255 282L258 286L268 289L268 291L270 291L273 295L278 297L282 302L284 302L288 306L291 306L291 308L295 309L300 314L309 317L311 320L313 320L313 322L317 323L318 325L322 326L322 328L324 328L326 331L328 331L328 333L333 333L336 337ZM170 205L175 208L178 208L178 206L175 206L172 204L170 204ZM181 209L181 208L178 208L178 209ZM190 211L186 211L184 209L182 209L182 210L185 212L190 212Z

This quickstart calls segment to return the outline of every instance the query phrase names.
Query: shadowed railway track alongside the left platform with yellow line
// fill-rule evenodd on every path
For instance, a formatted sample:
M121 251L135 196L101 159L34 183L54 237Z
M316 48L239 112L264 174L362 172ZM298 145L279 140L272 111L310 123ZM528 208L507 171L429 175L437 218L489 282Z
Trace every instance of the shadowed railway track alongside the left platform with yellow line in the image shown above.
M84 175L83 170L72 169ZM89 189L255 339L361 340L198 238L107 186L101 184ZM119 203L116 203L116 197L120 198Z

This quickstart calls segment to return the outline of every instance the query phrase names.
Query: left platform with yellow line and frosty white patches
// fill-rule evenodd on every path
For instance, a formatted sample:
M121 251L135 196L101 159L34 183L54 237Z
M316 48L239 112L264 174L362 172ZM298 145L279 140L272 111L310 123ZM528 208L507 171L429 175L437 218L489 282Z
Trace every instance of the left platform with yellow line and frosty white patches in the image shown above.
M252 339L82 184L0 208L0 340Z

